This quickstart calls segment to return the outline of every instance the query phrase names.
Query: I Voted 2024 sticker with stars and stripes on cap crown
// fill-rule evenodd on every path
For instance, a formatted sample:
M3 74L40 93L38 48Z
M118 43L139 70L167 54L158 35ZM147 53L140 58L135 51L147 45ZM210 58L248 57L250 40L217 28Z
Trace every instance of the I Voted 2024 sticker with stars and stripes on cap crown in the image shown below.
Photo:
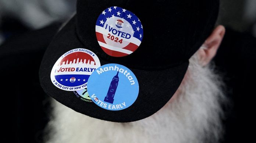
M143 27L131 11L109 7L97 19L96 37L105 53L114 57L127 56L141 44Z

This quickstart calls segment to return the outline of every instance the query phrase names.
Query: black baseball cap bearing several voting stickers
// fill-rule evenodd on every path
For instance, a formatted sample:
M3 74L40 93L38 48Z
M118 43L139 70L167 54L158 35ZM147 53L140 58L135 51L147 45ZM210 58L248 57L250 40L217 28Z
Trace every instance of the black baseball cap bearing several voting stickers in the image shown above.
M143 25L141 44L127 56L110 56L96 38L97 18L106 8L114 7L131 11ZM90 117L114 122L149 117L178 89L189 58L214 28L218 7L219 0L78 0L77 14L56 34L45 52L39 70L40 84L61 104ZM54 86L50 78L54 63L75 48L94 52L101 65L116 63L129 68L139 83L136 101L123 110L106 110Z

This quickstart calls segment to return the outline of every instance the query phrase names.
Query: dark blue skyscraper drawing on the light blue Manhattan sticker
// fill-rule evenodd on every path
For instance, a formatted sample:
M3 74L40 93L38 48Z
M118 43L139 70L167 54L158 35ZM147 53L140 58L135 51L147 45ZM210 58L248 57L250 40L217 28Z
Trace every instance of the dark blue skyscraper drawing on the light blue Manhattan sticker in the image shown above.
M109 86L109 91L107 91L107 96L105 97L104 101L113 104L114 102L114 96L115 96L115 91L117 90L118 86L118 72L117 75L115 75L110 83Z

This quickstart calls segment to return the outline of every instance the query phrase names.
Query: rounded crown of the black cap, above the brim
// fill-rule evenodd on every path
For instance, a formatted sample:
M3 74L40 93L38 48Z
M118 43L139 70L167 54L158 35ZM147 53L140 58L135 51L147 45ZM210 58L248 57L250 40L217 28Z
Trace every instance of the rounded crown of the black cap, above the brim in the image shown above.
M210 35L218 5L218 0L78 0L78 38L111 63L139 69L169 68L187 61ZM96 20L112 6L133 12L143 26L141 45L128 56L107 55L96 39Z

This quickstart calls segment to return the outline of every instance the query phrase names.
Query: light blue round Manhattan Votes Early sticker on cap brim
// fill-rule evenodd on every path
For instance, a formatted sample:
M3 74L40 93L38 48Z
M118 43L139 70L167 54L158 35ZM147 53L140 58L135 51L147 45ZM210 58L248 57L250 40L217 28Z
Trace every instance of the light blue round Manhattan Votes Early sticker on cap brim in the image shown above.
M128 108L139 94L136 76L119 64L106 64L97 68L90 75L87 86L92 101L107 110Z

